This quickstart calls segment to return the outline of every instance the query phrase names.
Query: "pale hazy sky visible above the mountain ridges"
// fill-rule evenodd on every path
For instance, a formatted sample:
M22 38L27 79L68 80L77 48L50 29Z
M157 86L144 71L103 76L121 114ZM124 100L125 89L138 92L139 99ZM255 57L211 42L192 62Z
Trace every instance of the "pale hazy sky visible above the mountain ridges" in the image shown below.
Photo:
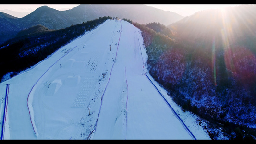
M38 7L47 5L50 8L56 10L71 9L78 6L79 4L1 4L0 10L12 10L15 12L32 12ZM234 4L146 4L148 6L156 7L165 11L176 12L182 16L189 16L195 12L206 10L206 9L216 9L228 6L235 6Z

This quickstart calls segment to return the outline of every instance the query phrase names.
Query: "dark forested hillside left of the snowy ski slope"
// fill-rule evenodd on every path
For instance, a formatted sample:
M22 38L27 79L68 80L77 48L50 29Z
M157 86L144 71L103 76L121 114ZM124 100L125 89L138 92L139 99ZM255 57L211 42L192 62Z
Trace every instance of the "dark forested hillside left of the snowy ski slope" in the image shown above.
M37 64L57 49L109 18L100 17L60 30L49 30L42 25L37 25L21 31L18 37L0 45L0 77L2 78L7 73L12 77Z

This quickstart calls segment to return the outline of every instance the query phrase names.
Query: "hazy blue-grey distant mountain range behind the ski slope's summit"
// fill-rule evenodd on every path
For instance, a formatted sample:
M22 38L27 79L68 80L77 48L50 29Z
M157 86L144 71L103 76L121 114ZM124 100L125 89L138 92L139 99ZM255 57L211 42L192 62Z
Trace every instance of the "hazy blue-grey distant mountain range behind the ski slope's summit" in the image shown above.
M164 25L183 18L175 12L146 5L79 5L66 11L42 6L22 18L0 12L0 44L15 37L19 31L38 24L56 30L103 16L126 18L139 24L158 22Z

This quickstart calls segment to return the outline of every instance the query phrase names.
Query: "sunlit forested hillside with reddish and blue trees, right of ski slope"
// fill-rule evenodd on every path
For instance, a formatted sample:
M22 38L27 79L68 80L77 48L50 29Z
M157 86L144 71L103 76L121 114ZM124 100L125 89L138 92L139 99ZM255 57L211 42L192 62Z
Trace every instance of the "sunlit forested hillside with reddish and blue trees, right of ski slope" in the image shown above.
M133 23L150 74L184 110L210 121L212 138L219 127L229 139L256 136L255 13L255 6L197 12L171 30Z

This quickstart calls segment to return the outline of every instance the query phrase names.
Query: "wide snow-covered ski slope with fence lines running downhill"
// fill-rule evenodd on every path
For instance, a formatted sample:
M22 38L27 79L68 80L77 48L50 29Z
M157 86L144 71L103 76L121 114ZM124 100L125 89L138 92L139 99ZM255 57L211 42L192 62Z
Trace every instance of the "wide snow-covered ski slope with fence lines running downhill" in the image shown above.
M3 139L194 139L146 77L146 59L140 30L107 20L0 84ZM147 75L195 138L209 139Z

